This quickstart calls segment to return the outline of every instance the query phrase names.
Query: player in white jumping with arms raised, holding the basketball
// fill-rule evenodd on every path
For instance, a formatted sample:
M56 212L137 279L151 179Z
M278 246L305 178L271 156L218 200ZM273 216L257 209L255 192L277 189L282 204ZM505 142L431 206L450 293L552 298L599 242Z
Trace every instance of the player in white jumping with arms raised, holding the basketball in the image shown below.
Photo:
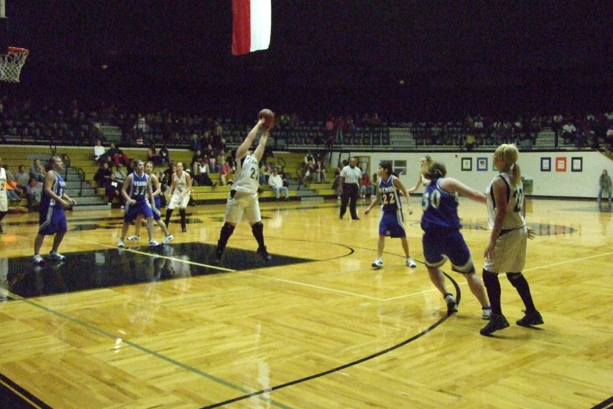
M234 228L240 221L248 221L251 224L251 232L257 240L257 253L262 256L265 261L270 261L272 258L266 246L264 245L264 224L262 224L262 216L260 214L260 204L257 200L257 188L259 187L259 161L262 159L264 147L268 140L269 126L265 125L266 118L262 117L257 124L249 131L243 143L236 151L236 176L234 185L226 202L226 215L224 216L223 227L219 233L219 241L213 255L213 262L219 264L226 244ZM256 150L249 153L248 149L256 138L257 132L262 129L259 143Z

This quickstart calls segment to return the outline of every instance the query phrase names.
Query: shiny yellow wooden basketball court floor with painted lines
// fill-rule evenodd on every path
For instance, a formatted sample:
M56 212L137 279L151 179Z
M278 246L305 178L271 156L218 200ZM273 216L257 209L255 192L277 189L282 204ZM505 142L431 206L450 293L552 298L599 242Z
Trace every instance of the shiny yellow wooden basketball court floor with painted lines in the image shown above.
M522 303L501 277L512 325L482 337L478 302L449 264L460 307L444 315L422 262L418 201L405 211L416 269L389 238L384 269L371 268L379 212L364 216L364 201L357 221L339 220L337 201L262 203L273 262L258 258L244 223L219 268L208 256L223 205L189 207L186 233L173 218L167 247L147 248L143 228L121 253L121 210L70 213L67 261L41 268L28 261L37 215L7 215L2 407L612 407L611 208L529 201L538 236L525 275L545 324L514 324ZM479 271L485 214L462 200Z

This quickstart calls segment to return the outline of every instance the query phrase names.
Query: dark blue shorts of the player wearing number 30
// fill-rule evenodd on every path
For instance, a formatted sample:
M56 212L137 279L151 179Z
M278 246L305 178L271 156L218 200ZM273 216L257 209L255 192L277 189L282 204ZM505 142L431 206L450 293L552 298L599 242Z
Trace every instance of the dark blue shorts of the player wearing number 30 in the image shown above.
M459 273L473 273L473 259L459 230L429 228L422 237L427 267L440 267L449 258L451 269Z

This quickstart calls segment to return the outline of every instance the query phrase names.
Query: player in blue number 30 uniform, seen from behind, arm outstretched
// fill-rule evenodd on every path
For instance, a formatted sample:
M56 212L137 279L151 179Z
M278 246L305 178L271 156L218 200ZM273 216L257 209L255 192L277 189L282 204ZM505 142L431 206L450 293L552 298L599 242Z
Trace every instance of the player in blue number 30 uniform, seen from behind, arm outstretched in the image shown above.
M443 294L447 303L447 314L457 312L455 297L445 286L445 276L441 266L449 258L451 269L461 273L468 281L468 286L481 303L482 318L489 319L492 310L485 294L483 281L475 273L470 250L460 233L460 218L458 216L458 196L468 197L485 204L485 193L478 192L464 185L459 180L445 177L447 169L442 162L433 161L424 176L431 180L422 196L421 227L424 231L425 265L428 268L430 280L438 291Z

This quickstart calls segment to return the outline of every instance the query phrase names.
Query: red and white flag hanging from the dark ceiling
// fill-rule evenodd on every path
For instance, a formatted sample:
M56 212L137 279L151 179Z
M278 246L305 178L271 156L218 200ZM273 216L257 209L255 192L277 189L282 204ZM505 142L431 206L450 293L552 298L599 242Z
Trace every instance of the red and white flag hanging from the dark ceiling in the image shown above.
M270 0L232 0L232 55L270 45Z

